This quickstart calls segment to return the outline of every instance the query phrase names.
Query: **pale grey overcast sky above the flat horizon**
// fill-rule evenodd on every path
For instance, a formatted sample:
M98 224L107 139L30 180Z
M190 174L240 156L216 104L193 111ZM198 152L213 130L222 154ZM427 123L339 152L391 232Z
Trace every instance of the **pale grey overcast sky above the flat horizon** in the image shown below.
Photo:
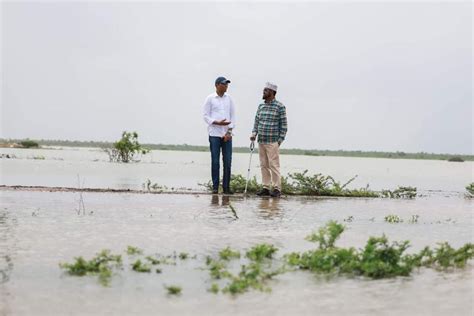
M232 80L234 146L266 81L286 148L473 153L471 2L1 4L2 138L207 145Z

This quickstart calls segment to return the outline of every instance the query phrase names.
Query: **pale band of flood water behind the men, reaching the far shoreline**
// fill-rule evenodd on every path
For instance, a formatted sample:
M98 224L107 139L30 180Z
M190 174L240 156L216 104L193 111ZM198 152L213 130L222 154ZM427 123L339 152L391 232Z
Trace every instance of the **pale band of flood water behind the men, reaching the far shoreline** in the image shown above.
M168 187L199 188L210 179L207 152L152 151L141 163L117 164L99 149L62 148L59 150L0 148L0 154L17 159L0 159L0 183L5 185L44 185L93 188L140 189L150 179ZM35 159L36 158L36 159ZM38 159L41 158L41 159ZM44 158L44 159L42 159ZM233 173L247 175L249 154L233 155ZM400 185L416 186L419 191L456 194L473 181L473 162L373 159L345 157L281 156L282 174L308 169L310 173L332 175L345 182L355 175L352 187L375 190ZM254 155L251 175L260 179L258 157Z

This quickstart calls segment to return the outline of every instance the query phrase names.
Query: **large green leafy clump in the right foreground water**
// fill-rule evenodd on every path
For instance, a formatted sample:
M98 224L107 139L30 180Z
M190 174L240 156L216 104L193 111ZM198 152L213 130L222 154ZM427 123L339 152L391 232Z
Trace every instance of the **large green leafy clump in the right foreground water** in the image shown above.
M318 233L308 236L319 242L319 247L304 253L286 255L290 266L316 273L360 275L373 279L408 276L414 268L462 268L474 257L474 244L454 249L448 243L431 250L425 247L419 253L406 254L409 241L389 243L387 237L370 237L364 248L335 246L344 226L329 222Z

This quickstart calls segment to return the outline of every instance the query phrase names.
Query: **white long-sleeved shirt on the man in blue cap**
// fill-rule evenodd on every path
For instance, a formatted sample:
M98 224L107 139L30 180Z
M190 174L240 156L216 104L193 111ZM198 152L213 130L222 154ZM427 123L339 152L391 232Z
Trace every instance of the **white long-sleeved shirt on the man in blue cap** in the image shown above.
M214 121L230 121L229 125L212 124ZM228 94L220 97L216 92L210 94L204 102L204 122L208 125L209 136L223 137L229 128L235 126L234 102Z

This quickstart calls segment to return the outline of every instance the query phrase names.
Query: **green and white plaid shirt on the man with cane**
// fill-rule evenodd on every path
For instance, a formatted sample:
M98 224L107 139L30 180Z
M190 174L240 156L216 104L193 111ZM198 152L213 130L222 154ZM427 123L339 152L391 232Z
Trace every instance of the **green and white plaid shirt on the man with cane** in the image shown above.
M283 103L274 99L258 106L252 133L258 135L259 143L281 143L285 140L287 130L286 108Z

